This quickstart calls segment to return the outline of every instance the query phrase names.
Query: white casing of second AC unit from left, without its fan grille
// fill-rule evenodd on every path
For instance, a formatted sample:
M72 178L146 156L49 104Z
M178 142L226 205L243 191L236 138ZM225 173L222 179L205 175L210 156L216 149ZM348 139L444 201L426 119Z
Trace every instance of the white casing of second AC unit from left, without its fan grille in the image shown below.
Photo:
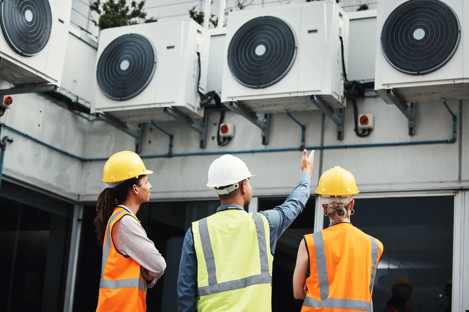
M197 94L198 57L200 53L200 85L206 93L210 36L191 19L177 22L152 22L101 31L98 44L99 58L108 44L125 34L139 34L151 41L156 51L156 70L145 89L126 101L108 98L96 80L93 87L91 112L106 112L125 122L166 121L172 117L164 113L173 107L191 118L201 118Z

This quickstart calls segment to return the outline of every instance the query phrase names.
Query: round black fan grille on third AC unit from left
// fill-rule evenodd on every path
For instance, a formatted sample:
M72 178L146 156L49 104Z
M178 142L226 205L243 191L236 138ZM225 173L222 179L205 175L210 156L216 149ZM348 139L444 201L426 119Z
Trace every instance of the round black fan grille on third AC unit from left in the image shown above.
M246 22L228 46L228 66L234 78L250 88L265 88L281 80L295 62L295 33L278 17Z

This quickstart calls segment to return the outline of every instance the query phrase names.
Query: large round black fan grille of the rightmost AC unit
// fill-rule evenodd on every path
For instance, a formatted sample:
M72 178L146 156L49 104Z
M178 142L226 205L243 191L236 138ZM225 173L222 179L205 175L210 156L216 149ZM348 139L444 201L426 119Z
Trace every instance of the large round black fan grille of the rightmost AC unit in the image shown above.
M453 9L439 0L410 0L387 18L381 50L395 69L424 75L445 65L461 40L461 25Z

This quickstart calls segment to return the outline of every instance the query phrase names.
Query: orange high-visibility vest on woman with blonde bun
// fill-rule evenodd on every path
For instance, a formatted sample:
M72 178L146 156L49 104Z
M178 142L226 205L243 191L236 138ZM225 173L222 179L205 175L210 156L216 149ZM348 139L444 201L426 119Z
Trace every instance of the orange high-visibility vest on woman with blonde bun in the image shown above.
M349 223L304 236L310 260L302 312L372 312L383 244Z

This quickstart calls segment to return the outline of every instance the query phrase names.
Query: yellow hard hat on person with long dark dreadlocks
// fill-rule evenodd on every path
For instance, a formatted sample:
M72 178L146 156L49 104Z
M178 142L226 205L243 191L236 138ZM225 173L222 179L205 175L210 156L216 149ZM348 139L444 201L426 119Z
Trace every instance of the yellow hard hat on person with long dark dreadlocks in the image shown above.
M103 182L112 183L152 174L146 170L144 162L134 152L123 151L112 155L104 165Z

